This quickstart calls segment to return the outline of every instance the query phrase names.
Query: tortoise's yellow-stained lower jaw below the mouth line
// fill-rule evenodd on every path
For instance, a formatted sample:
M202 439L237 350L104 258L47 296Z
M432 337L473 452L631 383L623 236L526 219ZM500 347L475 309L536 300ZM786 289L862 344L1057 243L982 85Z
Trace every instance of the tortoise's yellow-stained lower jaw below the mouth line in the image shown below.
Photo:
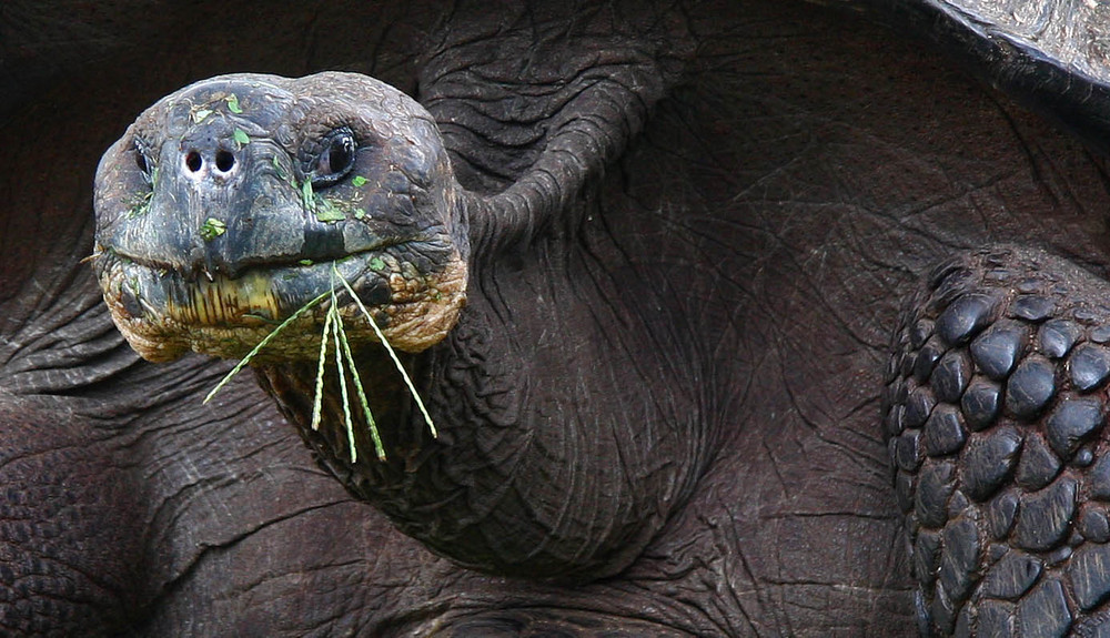
M172 361L188 351L240 358L329 291L335 291L352 344L379 341L360 316L353 292L394 347L421 352L454 327L466 298L466 264L457 251L440 251L430 260L426 247L404 242L336 260L259 264L233 277L183 273L109 247L98 253L97 271L117 326L149 361ZM331 305L325 300L301 312L293 330L268 344L256 361L315 358Z

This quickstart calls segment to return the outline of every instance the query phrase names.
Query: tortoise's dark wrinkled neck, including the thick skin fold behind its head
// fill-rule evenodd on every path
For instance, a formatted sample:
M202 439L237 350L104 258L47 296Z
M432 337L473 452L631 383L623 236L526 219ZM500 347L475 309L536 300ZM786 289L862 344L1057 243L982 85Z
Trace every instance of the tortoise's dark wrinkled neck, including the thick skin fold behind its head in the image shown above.
M504 43L454 33L460 47L493 47L478 55L495 60L485 72L509 81L484 85L486 105L475 109L466 103L473 80L452 55L422 71L422 102L466 171L453 200L468 242L460 246L467 305L443 342L403 355L438 437L376 345L357 358L385 460L353 409L352 463L334 375L319 431L309 426L313 364L262 367L261 383L324 466L433 551L498 575L610 576L682 506L713 445L694 320L664 315L674 304L659 282L635 276L640 266L598 224L583 223L599 212L605 166L677 80L683 48L624 37L605 44L598 65L591 47L558 47L567 59L551 64L569 80L548 102L531 99L524 115L542 134L506 162L504 149L516 146L496 135L519 129L515 82L532 89L513 57L501 57ZM519 44L534 45L531 37ZM515 176L488 179L513 165Z

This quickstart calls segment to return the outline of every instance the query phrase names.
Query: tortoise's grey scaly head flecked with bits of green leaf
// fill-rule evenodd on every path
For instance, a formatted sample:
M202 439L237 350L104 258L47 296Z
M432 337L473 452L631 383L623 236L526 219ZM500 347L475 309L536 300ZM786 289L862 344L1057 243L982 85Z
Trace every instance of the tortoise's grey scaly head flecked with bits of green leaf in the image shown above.
M374 341L341 280L391 344L420 352L465 303L460 193L431 115L396 89L353 73L218 77L155 103L105 153L95 270L151 361L242 357L336 288L349 338ZM322 322L327 303L295 321ZM316 356L319 330L286 332L261 361Z

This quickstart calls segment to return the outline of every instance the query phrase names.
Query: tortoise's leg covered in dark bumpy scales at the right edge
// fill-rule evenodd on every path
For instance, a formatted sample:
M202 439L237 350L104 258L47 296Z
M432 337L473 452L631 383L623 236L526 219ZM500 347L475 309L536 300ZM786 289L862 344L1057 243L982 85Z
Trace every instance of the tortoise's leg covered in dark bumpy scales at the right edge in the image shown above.
M922 635L1110 635L1099 287L1046 253L988 249L907 304L884 426Z

